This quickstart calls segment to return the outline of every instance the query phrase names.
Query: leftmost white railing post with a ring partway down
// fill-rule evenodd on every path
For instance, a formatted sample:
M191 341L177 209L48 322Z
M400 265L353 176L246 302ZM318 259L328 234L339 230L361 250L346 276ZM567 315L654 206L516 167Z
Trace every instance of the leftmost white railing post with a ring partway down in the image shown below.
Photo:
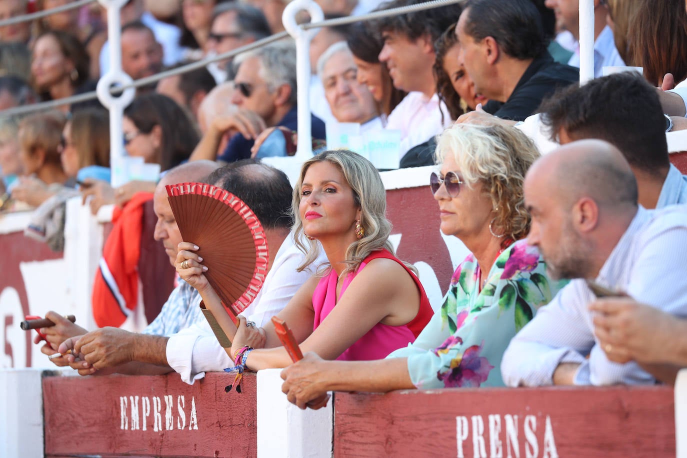
M122 71L122 27L120 10L127 0L98 0L100 5L107 8L107 41L109 43L110 68L98 81L95 88L98 100L110 111L110 168L112 170L110 183L113 187L124 184L124 139L122 137L122 116L124 107L131 103L136 90L133 87L114 97L110 93L113 86L131 84L133 80Z

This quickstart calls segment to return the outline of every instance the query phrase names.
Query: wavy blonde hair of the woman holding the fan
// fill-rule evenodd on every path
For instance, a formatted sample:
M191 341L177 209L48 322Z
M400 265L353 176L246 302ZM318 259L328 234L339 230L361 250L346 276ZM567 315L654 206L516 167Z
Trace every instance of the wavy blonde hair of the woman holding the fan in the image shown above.
M379 172L368 159L356 152L328 150L308 159L303 164L298 181L293 187L291 205L294 220L293 233L296 246L305 253L305 260L298 266L297 271L303 271L319 255L319 243L315 240L304 240L303 222L298 213L305 174L311 165L319 162L333 163L341 171L353 190L353 200L360 207L360 224L365 229L365 236L350 244L346 249L344 260L346 268L342 274L354 272L372 251L387 249L394 254L394 247L389 242L392 225L385 216L386 190Z

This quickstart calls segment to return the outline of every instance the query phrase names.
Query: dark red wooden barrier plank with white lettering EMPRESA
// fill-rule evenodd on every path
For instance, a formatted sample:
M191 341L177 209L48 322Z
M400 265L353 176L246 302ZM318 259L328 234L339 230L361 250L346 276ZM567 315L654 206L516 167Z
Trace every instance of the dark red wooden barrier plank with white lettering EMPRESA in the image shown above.
M256 376L244 376L240 394L225 393L232 380L223 373L192 386L177 374L45 378L45 454L254 457Z

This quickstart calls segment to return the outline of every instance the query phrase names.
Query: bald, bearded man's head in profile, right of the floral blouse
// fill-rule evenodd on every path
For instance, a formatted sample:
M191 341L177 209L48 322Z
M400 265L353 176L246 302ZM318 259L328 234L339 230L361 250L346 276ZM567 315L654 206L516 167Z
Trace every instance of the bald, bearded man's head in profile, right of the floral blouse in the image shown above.
M637 212L637 182L620 151L580 140L541 157L525 177L528 243L555 278L594 278Z

